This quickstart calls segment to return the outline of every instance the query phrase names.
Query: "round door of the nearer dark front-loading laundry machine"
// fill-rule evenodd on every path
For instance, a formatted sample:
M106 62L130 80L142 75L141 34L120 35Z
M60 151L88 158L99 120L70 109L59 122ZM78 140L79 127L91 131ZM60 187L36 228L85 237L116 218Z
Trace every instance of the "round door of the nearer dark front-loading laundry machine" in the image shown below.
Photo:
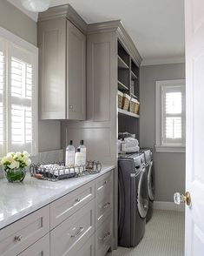
M146 218L148 213L148 184L145 165L141 167L141 177L137 190L137 207L141 218Z

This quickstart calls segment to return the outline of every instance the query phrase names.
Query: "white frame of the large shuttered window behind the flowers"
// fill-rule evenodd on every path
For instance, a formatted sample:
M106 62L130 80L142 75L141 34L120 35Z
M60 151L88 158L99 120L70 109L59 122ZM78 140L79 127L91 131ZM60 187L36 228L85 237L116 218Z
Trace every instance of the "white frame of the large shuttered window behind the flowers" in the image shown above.
M9 30L5 30L2 27L0 27L0 38L3 40L4 45L5 45L5 53L6 53L6 58L10 56L10 45L14 45L15 47L19 47L20 49L22 49L23 51L29 51L30 54L32 54L32 58L33 58L33 65L34 65L34 76L33 76L33 84L34 84L34 88L33 88L33 95L31 98L31 107L32 107L32 117L34 118L33 121L33 126L32 126L32 130L33 130L33 138L32 138L32 145L31 145L31 156L36 156L36 154L38 153L38 48L33 45L30 44L29 42L23 40L21 37L17 37L15 34L11 33ZM8 84L8 59L5 60L5 73L6 73L6 81L5 81L5 95L3 96L3 98L5 98L5 107L6 110L8 111L11 107L10 103L8 102L8 98L10 97L8 95L8 88L9 88L9 84ZM9 146L11 145L11 141L9 141L9 132L8 131L8 118L10 118L8 115L5 119L5 127L6 127L6 131L3 135L3 140L4 140L4 145L3 145L3 155L5 155L8 151L10 151ZM20 149L19 149L20 151ZM0 156L2 157L2 156Z

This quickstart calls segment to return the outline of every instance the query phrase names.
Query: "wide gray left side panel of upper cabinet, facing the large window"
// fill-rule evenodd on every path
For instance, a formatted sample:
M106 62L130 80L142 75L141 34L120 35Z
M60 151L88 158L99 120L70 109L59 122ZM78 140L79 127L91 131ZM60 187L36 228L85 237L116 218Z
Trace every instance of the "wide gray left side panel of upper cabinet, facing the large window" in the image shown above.
M39 22L41 119L66 118L66 19Z

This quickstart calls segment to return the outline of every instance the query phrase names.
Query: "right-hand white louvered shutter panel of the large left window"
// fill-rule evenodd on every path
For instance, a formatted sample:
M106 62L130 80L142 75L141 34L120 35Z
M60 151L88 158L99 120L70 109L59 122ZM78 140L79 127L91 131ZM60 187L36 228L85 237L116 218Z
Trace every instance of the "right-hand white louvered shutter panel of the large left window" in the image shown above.
M36 58L15 44L8 52L8 151L36 154Z

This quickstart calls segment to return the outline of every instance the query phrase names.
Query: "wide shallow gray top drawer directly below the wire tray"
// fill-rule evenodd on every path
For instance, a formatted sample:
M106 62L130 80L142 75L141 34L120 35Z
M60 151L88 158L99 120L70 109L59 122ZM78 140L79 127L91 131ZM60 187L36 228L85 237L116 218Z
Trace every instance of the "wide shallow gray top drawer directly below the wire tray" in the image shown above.
M89 182L87 185L70 192L61 199L57 199L50 205L50 227L55 226L68 219L74 212L86 205L95 198L95 182Z

